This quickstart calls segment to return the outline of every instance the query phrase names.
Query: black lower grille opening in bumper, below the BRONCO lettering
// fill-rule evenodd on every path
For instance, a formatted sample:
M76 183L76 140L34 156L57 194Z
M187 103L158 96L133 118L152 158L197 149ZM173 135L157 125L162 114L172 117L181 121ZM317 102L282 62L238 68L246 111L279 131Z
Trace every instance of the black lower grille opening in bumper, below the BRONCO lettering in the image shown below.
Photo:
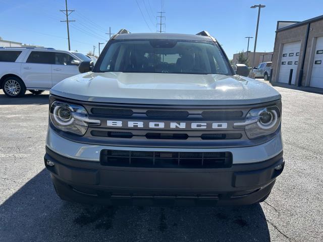
M232 153L102 150L100 163L128 167L225 168L232 166Z

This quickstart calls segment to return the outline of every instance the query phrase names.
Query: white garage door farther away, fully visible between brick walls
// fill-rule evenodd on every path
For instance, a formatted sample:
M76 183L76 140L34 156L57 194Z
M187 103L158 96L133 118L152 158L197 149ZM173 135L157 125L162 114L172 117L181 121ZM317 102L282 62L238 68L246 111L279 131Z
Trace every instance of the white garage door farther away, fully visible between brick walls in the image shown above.
M300 47L300 41L284 44L278 77L279 82L288 83L290 70L293 69L292 84L295 84Z

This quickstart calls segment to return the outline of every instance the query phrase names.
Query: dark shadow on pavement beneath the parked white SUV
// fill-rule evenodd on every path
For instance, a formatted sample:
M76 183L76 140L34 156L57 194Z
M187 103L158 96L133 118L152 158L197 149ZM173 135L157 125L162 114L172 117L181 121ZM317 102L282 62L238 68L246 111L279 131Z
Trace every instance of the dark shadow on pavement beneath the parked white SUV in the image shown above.
M48 92L45 94L35 95L26 92L23 97L7 97L2 91L0 92L0 105L28 105L28 104L48 104Z

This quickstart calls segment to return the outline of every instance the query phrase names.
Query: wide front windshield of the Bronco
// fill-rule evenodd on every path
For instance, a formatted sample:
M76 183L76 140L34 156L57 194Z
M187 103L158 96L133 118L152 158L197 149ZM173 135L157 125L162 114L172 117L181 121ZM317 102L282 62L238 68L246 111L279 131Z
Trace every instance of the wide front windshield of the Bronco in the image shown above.
M213 42L184 40L116 41L103 53L99 72L231 75Z

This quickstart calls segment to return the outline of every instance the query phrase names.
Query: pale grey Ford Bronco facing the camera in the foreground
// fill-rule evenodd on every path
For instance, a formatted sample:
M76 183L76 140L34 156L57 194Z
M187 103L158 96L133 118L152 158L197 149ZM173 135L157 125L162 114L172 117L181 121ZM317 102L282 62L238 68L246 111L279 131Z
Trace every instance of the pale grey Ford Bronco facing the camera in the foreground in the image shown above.
M67 201L247 205L284 169L281 95L216 39L120 30L50 89L44 163ZM237 74L237 75L236 75ZM242 75L241 75L242 74Z

